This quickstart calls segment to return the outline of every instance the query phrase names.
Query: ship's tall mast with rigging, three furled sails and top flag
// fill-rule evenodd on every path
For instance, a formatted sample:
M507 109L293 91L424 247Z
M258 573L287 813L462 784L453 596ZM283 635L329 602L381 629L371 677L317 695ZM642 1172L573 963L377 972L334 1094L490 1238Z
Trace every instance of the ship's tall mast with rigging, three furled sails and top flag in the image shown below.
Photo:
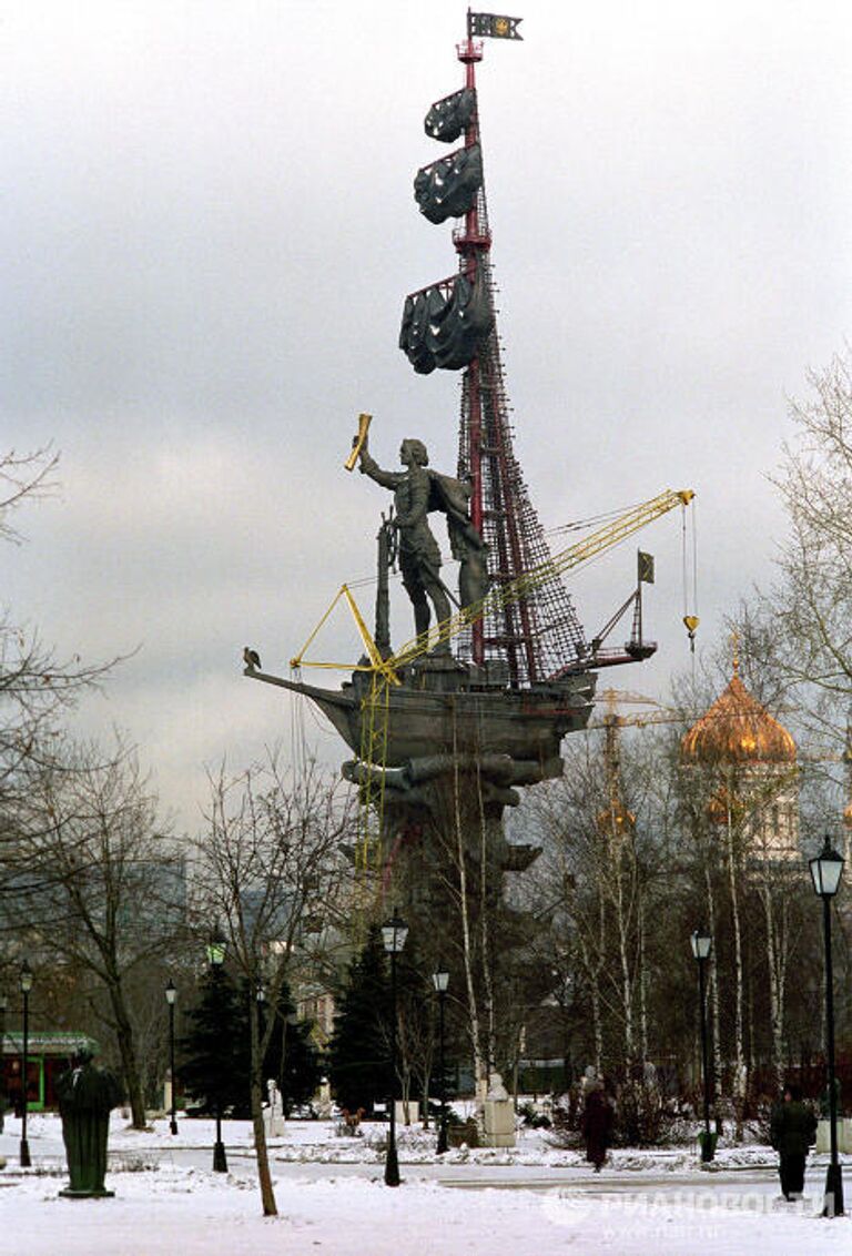
M464 87L436 100L427 134L442 143L464 136L462 147L421 167L415 198L430 222L456 219L452 242L457 273L406 298L400 348L415 371L462 371L459 427L460 480L470 487L470 517L486 545L491 589L515 582L550 559L544 531L515 457L510 404L496 332L491 276L476 65L478 35L520 39L520 19L467 14L467 38L456 45ZM456 555L457 556L457 555ZM495 599L495 607L499 599ZM488 678L525 688L583 666L588 647L571 595L554 579L489 610L461 638L459 658L485 669Z

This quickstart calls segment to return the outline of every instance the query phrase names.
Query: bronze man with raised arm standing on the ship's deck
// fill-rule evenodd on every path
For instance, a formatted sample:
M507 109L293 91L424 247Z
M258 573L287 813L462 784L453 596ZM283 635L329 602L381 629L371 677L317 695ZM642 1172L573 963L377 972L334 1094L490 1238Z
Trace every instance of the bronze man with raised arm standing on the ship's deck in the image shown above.
M426 470L429 466L426 446L417 440L402 442L400 462L405 471L383 471L367 452L366 441L358 458L364 475L381 484L383 489L393 490L395 524L400 538L400 569L402 583L415 609L415 632L420 637L429 631L430 602L435 608L437 623L450 618L450 599L440 575L441 551L429 526L431 480ZM441 652L449 648L447 642L436 646Z

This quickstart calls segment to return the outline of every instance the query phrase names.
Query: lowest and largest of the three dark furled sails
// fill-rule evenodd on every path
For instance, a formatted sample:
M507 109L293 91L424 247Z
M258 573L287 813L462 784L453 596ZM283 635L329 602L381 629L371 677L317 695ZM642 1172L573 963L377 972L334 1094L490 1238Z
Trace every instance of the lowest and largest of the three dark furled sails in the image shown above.
M466 275L454 275L406 296L400 348L417 374L427 376L435 367L459 371L476 357L479 342L493 322L480 273L472 284Z

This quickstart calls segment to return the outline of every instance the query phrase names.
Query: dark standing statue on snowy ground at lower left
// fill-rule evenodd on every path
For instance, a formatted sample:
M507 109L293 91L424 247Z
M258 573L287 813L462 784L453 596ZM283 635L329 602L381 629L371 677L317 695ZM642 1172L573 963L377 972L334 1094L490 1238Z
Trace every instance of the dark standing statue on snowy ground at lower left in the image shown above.
M62 1137L70 1186L60 1194L70 1197L112 1196L103 1184L107 1173L109 1112L122 1099L114 1074L97 1068L93 1053L82 1048L72 1066L57 1079Z

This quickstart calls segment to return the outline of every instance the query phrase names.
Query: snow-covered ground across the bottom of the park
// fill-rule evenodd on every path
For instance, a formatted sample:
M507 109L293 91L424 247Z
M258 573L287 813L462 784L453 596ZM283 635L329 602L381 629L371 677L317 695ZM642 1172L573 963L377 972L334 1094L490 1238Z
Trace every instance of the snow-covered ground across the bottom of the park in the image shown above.
M20 1122L0 1135L1 1256L834 1256L852 1252L852 1220L819 1217L824 1157L811 1157L806 1198L778 1202L767 1147L723 1147L713 1172L691 1148L618 1150L603 1173L577 1152L525 1132L510 1152L434 1154L434 1135L402 1129L402 1186L382 1181L381 1127L341 1138L292 1122L271 1144L279 1216L263 1217L248 1122L226 1122L227 1174L210 1167L214 1125L181 1120L171 1137L114 1114L107 1186L113 1199L60 1199L60 1125L30 1117L33 1168L18 1163ZM848 1158L847 1158L848 1159ZM852 1206L852 1162L847 1193Z

